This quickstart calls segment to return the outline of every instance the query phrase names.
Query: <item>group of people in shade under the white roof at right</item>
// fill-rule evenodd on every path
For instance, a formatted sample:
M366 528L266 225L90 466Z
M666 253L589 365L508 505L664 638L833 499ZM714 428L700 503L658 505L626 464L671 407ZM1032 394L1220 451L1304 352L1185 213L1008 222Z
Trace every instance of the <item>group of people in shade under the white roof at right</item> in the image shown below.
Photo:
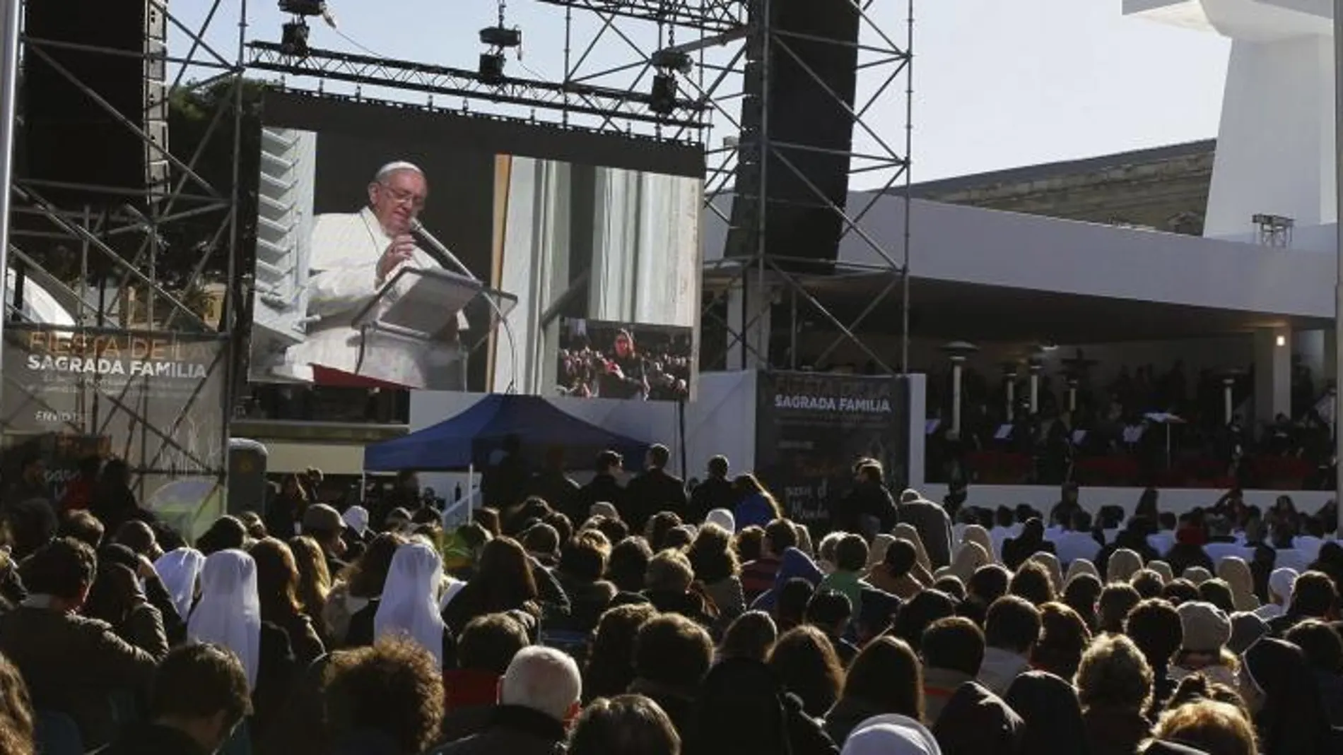
M1072 362L1095 366L1082 353ZM1283 481L1273 475L1281 464L1254 461L1284 457L1300 468L1292 472L1292 487L1334 488L1331 410L1322 410L1332 404L1332 385L1317 385L1300 361L1292 366L1291 410L1272 422L1250 422L1238 412L1226 416L1223 381L1232 382L1233 406L1241 408L1253 396L1253 366L1236 373L1203 369L1191 377L1179 361L1164 369L1123 365L1107 382L1095 380L1091 369L1077 367L1062 380L1045 373L1038 381L1038 405L1031 412L1029 375L1018 370L1009 412L1007 380L995 382L967 367L960 432L952 432L947 421L929 432L925 479L972 481L983 472L975 468L976 461L984 461L976 452L992 451L1027 457L1019 481L1031 484L1077 479L1084 460L1128 457L1135 463L1125 469L1129 479L1100 483L1132 485L1164 479L1164 484L1176 485L1182 477L1230 477L1244 487L1281 488ZM929 418L951 416L950 386L950 373L929 374Z

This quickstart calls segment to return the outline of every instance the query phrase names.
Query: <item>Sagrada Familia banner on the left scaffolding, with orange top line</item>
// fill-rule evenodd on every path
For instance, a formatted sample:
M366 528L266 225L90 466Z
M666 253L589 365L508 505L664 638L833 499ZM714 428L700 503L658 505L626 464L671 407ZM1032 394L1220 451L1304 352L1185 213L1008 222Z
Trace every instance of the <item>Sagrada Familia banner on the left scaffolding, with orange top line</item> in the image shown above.
M118 457L144 475L142 506L180 477L224 468L227 341L7 325L0 433L7 472L38 453L60 500L81 459ZM11 477L12 479L12 477Z

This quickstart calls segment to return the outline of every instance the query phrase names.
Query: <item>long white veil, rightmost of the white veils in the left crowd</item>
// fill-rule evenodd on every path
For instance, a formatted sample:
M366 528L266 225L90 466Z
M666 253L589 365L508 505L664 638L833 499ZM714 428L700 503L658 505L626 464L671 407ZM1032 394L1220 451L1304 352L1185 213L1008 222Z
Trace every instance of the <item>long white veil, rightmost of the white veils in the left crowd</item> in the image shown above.
M406 543L396 548L387 570L387 586L373 616L373 637L408 634L443 665L443 617L438 613L438 589L443 561L428 544Z

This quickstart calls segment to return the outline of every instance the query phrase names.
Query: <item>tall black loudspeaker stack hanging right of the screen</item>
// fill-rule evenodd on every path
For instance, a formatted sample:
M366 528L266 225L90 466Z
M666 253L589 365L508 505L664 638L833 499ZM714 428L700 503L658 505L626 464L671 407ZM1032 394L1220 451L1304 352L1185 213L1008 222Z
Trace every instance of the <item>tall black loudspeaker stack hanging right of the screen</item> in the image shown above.
M759 249L767 194L766 255L817 260L776 260L786 271L829 272L843 232L834 208L849 192L860 13L851 0L752 0L749 13L727 255Z

